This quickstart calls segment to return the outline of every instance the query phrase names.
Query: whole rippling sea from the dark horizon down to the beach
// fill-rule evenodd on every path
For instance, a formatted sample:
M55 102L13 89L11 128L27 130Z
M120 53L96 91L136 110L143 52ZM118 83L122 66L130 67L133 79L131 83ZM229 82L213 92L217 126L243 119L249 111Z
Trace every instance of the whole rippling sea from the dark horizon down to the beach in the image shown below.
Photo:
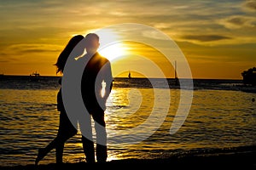
M55 138L59 123L58 79L40 77L38 82L31 82L29 77L4 77L0 80L0 166L33 164L38 148ZM169 88L161 86L162 81L154 79L157 86L152 88L147 79L115 79L106 111L108 161L218 154L256 145L254 88L244 88L240 80L194 80L189 115L177 133L170 134L181 104L181 90L173 79L168 80ZM184 92L189 90L192 89ZM162 98L166 94L170 100ZM151 116L153 112L156 116ZM160 120L163 122L157 124ZM140 125L146 128L137 130ZM152 131L150 127L155 129ZM144 138L144 134L149 135ZM139 140L132 143L134 139ZM63 158L65 162L84 161L80 131L65 144ZM40 161L41 164L54 162L55 150Z

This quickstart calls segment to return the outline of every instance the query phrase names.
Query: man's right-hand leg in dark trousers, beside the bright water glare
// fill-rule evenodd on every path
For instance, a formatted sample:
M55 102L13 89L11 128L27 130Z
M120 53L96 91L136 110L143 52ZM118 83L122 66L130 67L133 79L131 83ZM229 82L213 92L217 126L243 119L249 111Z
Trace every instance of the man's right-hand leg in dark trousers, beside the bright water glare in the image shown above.
M99 110L92 114L96 128L96 159L98 162L107 161L107 132L104 120L104 111Z

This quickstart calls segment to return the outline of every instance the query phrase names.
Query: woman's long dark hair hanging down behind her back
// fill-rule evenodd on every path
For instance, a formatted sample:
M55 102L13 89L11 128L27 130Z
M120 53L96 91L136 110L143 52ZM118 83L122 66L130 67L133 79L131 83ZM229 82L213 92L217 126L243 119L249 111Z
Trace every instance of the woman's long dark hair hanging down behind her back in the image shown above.
M57 62L55 63L55 66L57 67L56 74L58 72L63 73L64 66L67 62L67 58L69 54L73 51L73 48L76 47L76 45L84 38L82 35L76 35L72 37L69 42L67 43L67 46L63 49L61 54L59 55Z

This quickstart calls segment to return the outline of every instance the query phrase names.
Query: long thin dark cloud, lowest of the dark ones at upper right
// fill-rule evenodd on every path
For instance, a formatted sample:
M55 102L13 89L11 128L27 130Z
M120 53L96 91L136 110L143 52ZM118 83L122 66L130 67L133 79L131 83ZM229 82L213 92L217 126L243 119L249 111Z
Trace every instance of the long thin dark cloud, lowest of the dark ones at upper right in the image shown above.
M183 36L183 39L196 40L200 42L212 42L212 41L232 39L232 38L220 36L220 35L186 35L186 36Z

